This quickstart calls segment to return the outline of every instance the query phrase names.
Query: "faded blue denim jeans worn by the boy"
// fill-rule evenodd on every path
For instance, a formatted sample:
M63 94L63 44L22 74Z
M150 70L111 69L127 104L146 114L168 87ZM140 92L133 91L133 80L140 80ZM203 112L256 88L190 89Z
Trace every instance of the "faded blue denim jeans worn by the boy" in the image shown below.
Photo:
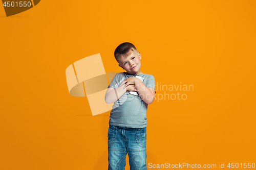
M109 170L124 170L128 153L131 170L146 168L146 127L126 128L110 125L108 131Z

